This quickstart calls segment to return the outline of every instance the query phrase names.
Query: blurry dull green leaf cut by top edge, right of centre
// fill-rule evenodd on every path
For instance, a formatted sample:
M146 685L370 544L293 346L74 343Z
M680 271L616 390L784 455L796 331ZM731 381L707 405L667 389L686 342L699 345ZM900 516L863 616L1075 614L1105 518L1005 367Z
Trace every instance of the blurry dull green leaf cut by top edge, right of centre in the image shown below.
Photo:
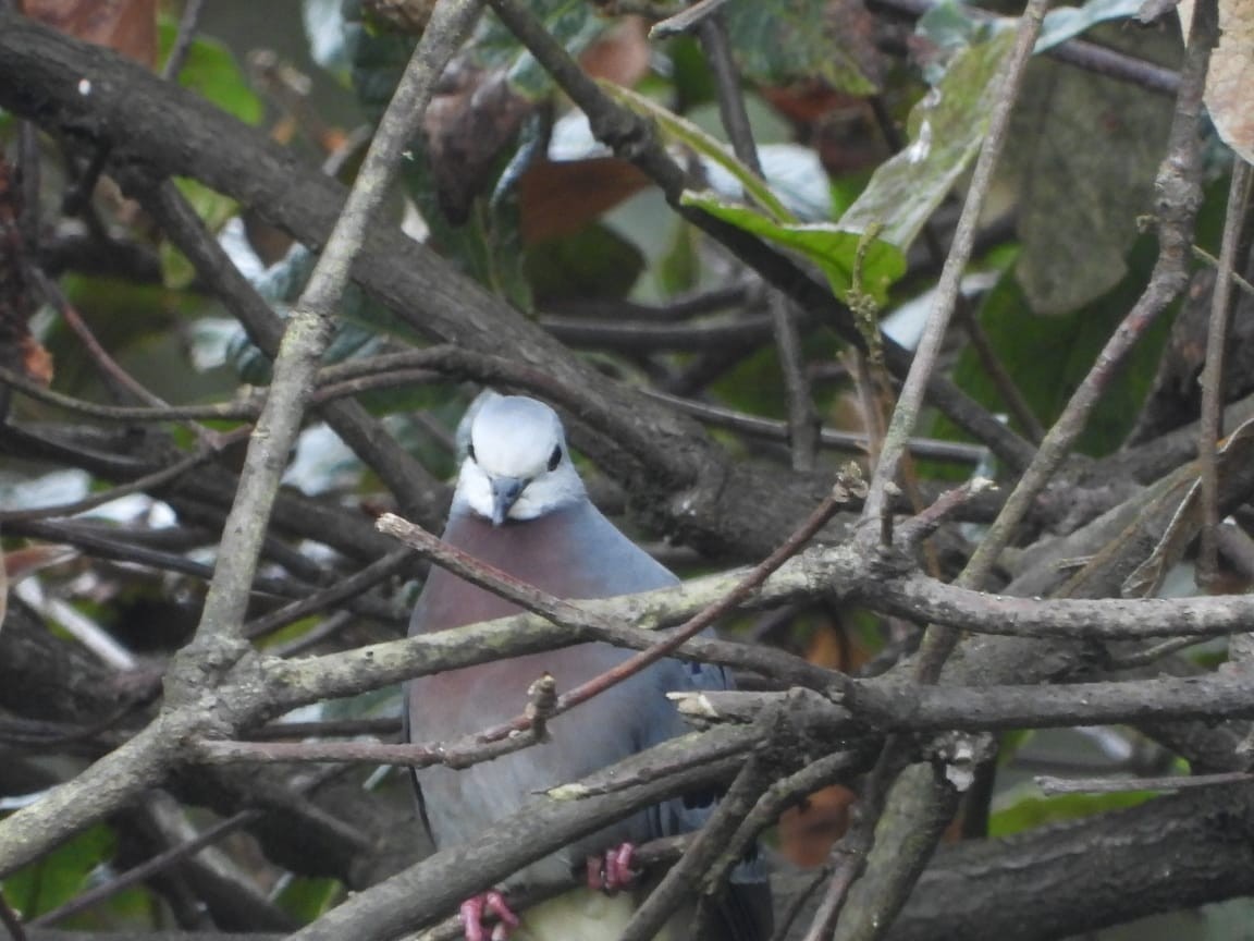
M745 78L776 85L818 77L840 92L872 94L878 89L859 46L867 39L849 15L828 0L750 0L722 10Z

